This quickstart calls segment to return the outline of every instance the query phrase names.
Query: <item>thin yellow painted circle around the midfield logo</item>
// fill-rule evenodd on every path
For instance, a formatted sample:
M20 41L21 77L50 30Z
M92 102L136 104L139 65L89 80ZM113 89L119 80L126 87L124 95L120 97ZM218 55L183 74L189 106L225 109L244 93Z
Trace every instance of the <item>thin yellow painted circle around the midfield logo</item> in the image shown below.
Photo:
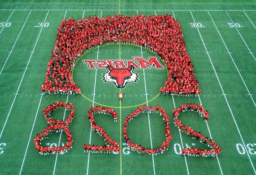
M99 46L99 47L97 47L97 48L101 48L101 47L105 47L105 46L110 46L110 45L117 45L117 44L106 44L106 45ZM131 45L131 46L136 46L136 47L139 47L139 48L140 48L140 46L133 45L133 44L119 44L119 45ZM76 63L77 63L82 57L84 57L85 54L87 54L87 53L89 53L89 52L91 52L91 51L93 51L93 50L95 50L95 49L97 49L97 48L93 48L93 49L89 50L88 52L84 53L84 54L83 54L81 57L79 57L79 59L75 62L75 65L76 65ZM142 48L143 48L143 47L142 47ZM153 53L151 50L149 50L149 49L147 49L147 48L143 48L143 49L145 49L145 50L150 51L151 53ZM153 54L154 54L155 56L157 56L157 54L155 54L155 53L153 53ZM157 56L157 57L158 57L158 56ZM165 69L167 70L167 76L168 76L168 69L167 69L166 64L162 61L162 59L159 59L159 60L163 63L163 66L164 66ZM75 69L75 65L74 65L73 70L72 70L72 73L71 73L71 75L72 75L72 81L73 81L73 82L74 82L74 79L73 79L73 71L74 71L74 69ZM96 101L94 101L94 103L97 104L97 105L106 106L106 107L108 107L108 108L132 108L132 107L137 107L137 106L145 105L147 102L153 101L153 100L154 100L155 98L157 98L159 95L160 95L160 93L157 94L156 96L154 96L154 97L153 97L152 99L150 99L149 101L146 101L146 102L141 103L141 104L138 104L138 105L132 105L132 106L109 106L109 105L104 105L104 104L98 103L98 102L96 102ZM83 93L81 93L81 96L83 96L86 100L93 102L91 99L89 99L89 98L88 98L87 96L85 96Z

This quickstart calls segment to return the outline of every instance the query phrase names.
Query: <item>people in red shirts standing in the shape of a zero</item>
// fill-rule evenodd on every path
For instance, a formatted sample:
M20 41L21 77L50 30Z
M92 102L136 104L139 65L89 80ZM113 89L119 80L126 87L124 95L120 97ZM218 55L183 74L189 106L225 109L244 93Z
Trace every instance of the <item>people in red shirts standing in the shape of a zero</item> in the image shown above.
M141 146L141 144L135 144L133 143L130 138L128 137L127 133L127 127L128 123L131 119L137 118L140 114L143 113L149 113L149 114L160 114L160 116L163 117L163 120L165 120L165 133L166 133L166 140L162 143L162 145L159 148L144 148ZM132 151L136 151L137 153L142 153L145 155L158 155L160 153L163 153L165 150L168 150L168 146L170 144L170 141L172 140L171 132L169 129L169 116L166 114L165 110L163 108L160 108L159 105L157 106L141 106L137 108L134 112L131 112L124 120L124 139L128 145L128 149L131 149Z

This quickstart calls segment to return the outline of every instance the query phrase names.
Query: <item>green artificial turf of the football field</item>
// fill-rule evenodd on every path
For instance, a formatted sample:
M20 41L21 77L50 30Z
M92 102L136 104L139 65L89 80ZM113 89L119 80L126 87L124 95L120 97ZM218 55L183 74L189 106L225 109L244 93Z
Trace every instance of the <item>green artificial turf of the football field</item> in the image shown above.
M247 85L251 94L256 94L254 88L256 84L255 60L252 54L248 53L248 48L252 52L256 52L256 33L252 25L252 23L256 25L255 1L247 1L246 3L244 1L232 1L229 3L223 3L222 1L216 1L215 3L194 3L192 1L168 1L161 3L158 1L141 1L135 3L133 1L120 1L120 4L119 1L104 1L102 3L97 1L86 3L80 1L72 1L72 3L69 1L47 1L43 3L40 1L16 1L15 3L1 1L0 9L28 9L15 10L10 18L9 16L12 10L0 10L0 22L6 22L8 18L8 22L11 22L11 26L4 27L3 30L2 27L0 27L0 31L2 30L0 33L1 69L30 13L30 9L44 10L31 11L22 29L21 35L13 48L13 53L10 54L9 60L6 62L0 74L0 90L2 92L0 94L0 131L2 131L7 116L9 116L0 138L0 143L6 144L5 146L3 146L3 144L0 145L0 174L18 174L21 170L22 174L53 174L53 172L55 174L154 174L154 171L155 174L187 174L188 171L190 174L221 174L220 166L216 158L187 157L187 171L184 157L180 157L180 155L175 153L174 145L179 152L177 145L181 145L181 138L179 131L174 126L171 127L172 141L168 151L160 156L154 156L154 162L152 157L144 157L134 152L130 152L129 154L122 153L121 156L90 154L88 167L88 154L84 153L82 145L84 143L88 144L90 140L90 123L86 114L93 103L84 99L82 96L68 97L68 102L72 102L75 105L75 118L70 125L71 133L74 135L73 149L64 155L58 155L57 158L56 155L41 156L35 150L33 139L36 133L42 131L43 128L47 126L47 122L42 114L42 109L55 101L67 100L67 96L62 95L44 95L42 97L40 95L40 86L44 81L44 73L51 55L50 51L53 49L55 43L59 23L64 18L65 13L65 18L74 17L75 19L79 19L82 18L83 13L84 16L95 14L98 16L101 16L101 14L102 16L115 15L115 13L119 13L119 7L120 13L123 15L136 15L137 10L138 13L145 15L155 13L161 15L168 13L172 16L174 14L176 19L181 21L186 48L194 65L196 78L199 80L200 88L202 89L200 100L204 108L210 113L208 120L209 130L206 123L192 112L181 114L180 118L184 124L193 127L197 131L201 131L207 136L210 136L209 131L211 132L213 140L223 149L219 157L223 174L255 174L252 164L255 167L256 146L250 144L256 143L254 127L254 123L256 122L254 118L256 109L251 97L247 95L248 92L244 85L244 83ZM41 28L34 26L38 25L39 22L44 22L48 9L62 10L49 11L45 20L45 22L49 22L49 26L44 27L40 33ZM66 11L66 9L74 10ZM187 11L188 9L192 10L194 19L190 11ZM227 53L228 51L210 15L207 11L196 11L204 9L221 10L210 11L210 14L229 52L231 52L231 56L243 77L244 83L230 55ZM230 19L223 10L252 10L245 11L252 23L243 11L228 11L233 22L243 26L238 28L238 31L243 36L248 48L238 34L238 31L228 25ZM243 144L243 142L239 136L238 129L225 97L222 95L223 92L203 46L199 32L197 28L191 27L190 23L193 23L194 20L204 26L199 28L200 35L209 52L221 86L225 94L227 94L226 99L232 110L244 143L246 145L248 144L248 147L252 149L250 150L252 154L249 153L252 164L247 153L244 155L238 153L236 145L238 143ZM34 47L35 53L31 54ZM121 45L120 48L122 52L121 59L132 59L132 56L141 55L141 50L135 46ZM98 59L119 59L119 45L101 47L99 48L99 52ZM145 52L143 53L144 58L153 56L153 53L146 50L143 50L143 52ZM96 59L97 49L86 54L85 58ZM30 62L28 64L29 60ZM25 69L26 73L22 79ZM113 84L102 82L101 74L104 70L97 71L95 101L119 106L119 101L115 95L118 89L116 89ZM124 96L124 101L121 102L121 106L146 102L143 71L138 70L138 72L140 80L138 83L129 83L124 89L126 95ZM158 88L162 86L162 83L165 81L166 71L145 70L145 78L147 93L149 94L148 100L150 100L157 94ZM94 91L95 70L88 70L87 66L83 65L80 60L74 70L74 79L75 82L82 87L84 95L93 99L91 94L93 94ZM19 86L21 80L22 83ZM14 101L15 95L13 94L17 92L18 87L20 87L18 90L19 95L16 96ZM252 96L252 98L253 100L255 99L254 96ZM173 102L175 102L175 104ZM150 101L149 105L159 104L163 106L171 118L174 105L178 107L187 102L200 103L198 97L174 96L173 101L172 96L159 96L154 101ZM10 111L12 104L13 107ZM122 145L125 141L123 135L120 138L120 132L122 132L124 118L135 109L136 107L121 108L121 110L120 108L116 108L115 110L119 114L118 122L113 122L112 118L104 115L97 115L95 119L97 124L104 127L111 138L117 140L118 143ZM63 111L57 111L53 114L53 117L63 118L63 114ZM33 126L34 128L32 130ZM150 115L150 129L153 147L158 147L165 138L163 120L157 115ZM29 141L31 131L32 135ZM128 133L134 142L150 147L148 116L143 114L130 122ZM198 142L191 140L182 133L181 136L184 146L187 144L191 147L192 143L194 143L196 147L204 148ZM59 139L60 134L53 134L50 136L49 140L44 140L42 143L58 144ZM66 136L63 134L60 144L65 142ZM95 132L92 132L91 143L104 144L104 141L97 136ZM27 145L28 149L26 151ZM122 149L125 147L125 145L122 145ZM247 150L249 150L249 148L247 148ZM240 148L240 150L242 149ZM26 157L23 162L25 153ZM120 164L121 161L122 164Z

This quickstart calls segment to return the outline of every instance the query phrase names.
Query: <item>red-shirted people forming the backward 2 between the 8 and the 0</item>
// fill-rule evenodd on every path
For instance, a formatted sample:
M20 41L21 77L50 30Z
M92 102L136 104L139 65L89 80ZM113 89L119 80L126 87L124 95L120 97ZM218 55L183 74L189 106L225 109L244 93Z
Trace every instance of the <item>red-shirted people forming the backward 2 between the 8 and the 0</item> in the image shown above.
M87 113L88 119L91 122L92 130L96 131L104 140L106 140L107 146L94 146L94 145L87 145L84 144L84 153L85 152L90 152L90 153L114 153L114 154L119 154L120 152L120 147L119 144L115 140L111 140L108 134L104 131L104 129L100 126L98 126L95 123L95 119L93 117L94 114L108 114L114 118L114 121L117 122L117 114L115 110L111 108L105 108L103 106L96 106L96 107L91 107L90 110Z

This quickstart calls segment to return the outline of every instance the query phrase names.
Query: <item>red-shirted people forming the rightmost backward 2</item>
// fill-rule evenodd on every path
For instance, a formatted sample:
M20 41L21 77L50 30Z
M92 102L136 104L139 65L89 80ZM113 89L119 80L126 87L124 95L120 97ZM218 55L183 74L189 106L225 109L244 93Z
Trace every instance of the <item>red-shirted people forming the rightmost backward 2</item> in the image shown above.
M174 120L175 126L179 129L179 131L184 132L185 134L187 134L187 136L192 137L194 140L200 141L201 143L207 145L208 147L211 148L211 150L197 149L197 148L182 149L181 155L182 156L217 157L222 150L216 144L215 141L213 141L212 139L208 139L208 137L201 134L201 132L194 131L191 127L183 125L181 120L178 119L179 114L185 111L198 112L199 115L202 118L204 118L204 121L206 121L209 118L208 111L204 110L202 105L187 103L186 105L181 105L178 109L173 109L173 116L174 116L173 120Z

